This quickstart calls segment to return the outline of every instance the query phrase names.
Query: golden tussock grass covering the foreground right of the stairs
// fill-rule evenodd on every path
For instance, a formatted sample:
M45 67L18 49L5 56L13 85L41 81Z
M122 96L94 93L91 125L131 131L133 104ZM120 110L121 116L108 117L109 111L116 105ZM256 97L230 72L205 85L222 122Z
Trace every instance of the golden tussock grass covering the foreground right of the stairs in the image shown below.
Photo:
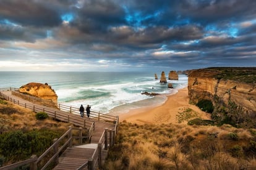
M255 129L120 123L103 169L255 169Z

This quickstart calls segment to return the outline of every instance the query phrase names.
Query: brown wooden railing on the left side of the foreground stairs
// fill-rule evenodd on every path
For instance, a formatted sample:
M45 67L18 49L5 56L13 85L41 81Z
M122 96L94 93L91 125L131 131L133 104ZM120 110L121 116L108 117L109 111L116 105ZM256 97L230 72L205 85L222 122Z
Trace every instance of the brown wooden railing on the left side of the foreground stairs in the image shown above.
M74 136L74 131L79 131L78 134L79 136ZM87 133L86 136L83 136L83 131ZM83 129L82 127L79 128L74 128L74 127L69 127L69 129L59 138L59 139L54 139L53 140L53 145L49 147L41 156L38 158L36 155L32 155L31 158L25 161L20 161L19 163L14 163L10 164L4 167L1 167L1 170L7 170L7 169L14 169L18 168L21 166L25 166L27 164L30 164L30 169L31 170L36 170L36 169L46 169L51 163L58 164L59 162L59 155L67 148L67 147L72 147L74 145L82 145L83 144L83 139L88 139L88 129ZM63 141L65 140L65 141ZM74 140L76 141L74 144ZM64 143L64 144L62 144ZM61 145L62 144L62 145ZM47 160L46 160L47 159ZM40 162L45 161L40 167Z

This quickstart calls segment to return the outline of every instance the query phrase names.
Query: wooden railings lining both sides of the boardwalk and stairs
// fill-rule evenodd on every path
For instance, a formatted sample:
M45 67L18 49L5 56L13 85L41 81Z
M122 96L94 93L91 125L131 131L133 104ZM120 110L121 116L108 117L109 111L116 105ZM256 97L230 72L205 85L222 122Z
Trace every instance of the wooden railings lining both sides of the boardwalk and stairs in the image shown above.
M54 160L56 160L56 162L58 162L59 153L61 153L62 150L64 150L64 148L67 147L68 144L70 146L70 142L72 142L72 139L79 139L80 142L78 142L77 144L82 144L83 138L87 138L90 141L90 139L92 137L93 130L95 129L95 122L91 119L84 118L83 123L81 123L79 121L81 119L80 116L77 116L77 115L80 115L78 107L72 107L69 105L61 104L61 103L58 104L58 109L54 109L54 108L46 107L46 106L40 107L35 104L32 105L31 103L26 103L26 102L12 99L11 97L9 97L1 92L1 91L14 91L14 90L17 90L17 89L11 88L11 87L10 88L1 88L0 96L2 96L6 100L9 100L15 104L20 105L22 107L30 108L31 110L33 110L35 112L44 111L45 113L48 113L48 115L53 117L54 119L59 119L60 121L69 122L76 126L84 127L85 129L87 129L86 137L83 137L81 135L79 135L79 137L76 137L76 136L72 137L72 133L70 131L72 131L72 129L75 129L75 128L70 128L65 134L62 135L62 137L60 137L58 140L56 139L54 144L51 147L49 147L48 150L46 150L46 152L43 153L43 155L41 155L39 158L30 158L29 160L25 160L25 161L22 161L20 163L15 163L15 164L19 164L19 166L22 166L22 165L30 163L30 169L33 169L34 167L35 167L35 169L37 169L37 164L43 159L43 157L48 155L49 150L54 149L54 155L50 158L50 160L42 168L42 169L45 169ZM30 95L28 95L28 96L30 96ZM98 121L107 121L109 123L114 123L115 126L114 126L114 129L108 129L108 128L105 129L105 131L101 135L101 138L98 142L98 147L96 148L95 152L93 153L92 158L87 163L84 163L82 166L80 166L80 168L78 168L78 169L83 169L85 167L88 167L88 169L95 169L97 164L100 167L101 162L102 162L102 153L103 153L102 149L104 148L104 150L108 150L109 147L112 147L114 145L114 139L118 132L119 116L111 115L111 114L104 114L104 113L100 113L99 111L92 110L90 113L90 118L98 120ZM81 134L81 132L79 132L79 134ZM60 149L58 149L60 140L64 139L66 136L68 136L67 142L65 142L65 144L62 145L62 147ZM9 166L17 167L17 165L14 165L14 164L9 165ZM8 166L5 166L0 169L15 168L15 167L12 167L12 168L7 168L7 167Z

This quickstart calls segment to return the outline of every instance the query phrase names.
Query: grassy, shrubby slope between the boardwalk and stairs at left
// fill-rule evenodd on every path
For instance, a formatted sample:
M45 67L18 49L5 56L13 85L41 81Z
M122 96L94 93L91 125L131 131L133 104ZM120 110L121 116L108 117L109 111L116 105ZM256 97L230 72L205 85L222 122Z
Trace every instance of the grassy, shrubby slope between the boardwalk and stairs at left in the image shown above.
M0 165L40 156L69 126L0 99Z

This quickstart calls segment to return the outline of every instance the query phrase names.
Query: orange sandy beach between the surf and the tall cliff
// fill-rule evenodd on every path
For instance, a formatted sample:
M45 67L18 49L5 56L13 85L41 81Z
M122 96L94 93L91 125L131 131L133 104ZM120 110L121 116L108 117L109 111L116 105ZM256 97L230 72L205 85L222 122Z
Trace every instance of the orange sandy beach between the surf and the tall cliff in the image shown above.
M195 105L189 104L188 89L186 87L179 89L174 95L169 95L163 105L130 110L128 113L119 115L119 120L120 122L126 120L127 122L137 124L178 123L176 115L186 108L191 108L203 119L210 119L210 114L205 113ZM187 124L187 121L183 121L182 124Z

